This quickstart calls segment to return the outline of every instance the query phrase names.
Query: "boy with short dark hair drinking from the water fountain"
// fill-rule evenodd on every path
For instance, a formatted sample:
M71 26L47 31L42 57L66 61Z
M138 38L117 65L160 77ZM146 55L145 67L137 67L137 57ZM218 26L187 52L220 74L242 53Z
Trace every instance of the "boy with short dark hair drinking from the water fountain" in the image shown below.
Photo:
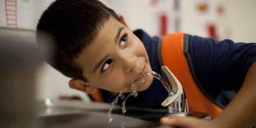
M163 124L239 128L256 123L252 114L256 113L256 44L218 42L184 33L150 38L142 30L132 33L121 15L97 0L53 2L38 22L37 41L46 62L72 78L69 86L91 94L95 101L112 102L117 93L130 92L135 83L139 95L127 99L126 105L161 108L168 96L161 82L151 75L139 82L148 70L164 75L160 67L167 65L183 85L190 110L218 117L212 121L163 118ZM240 88L222 112L218 95Z

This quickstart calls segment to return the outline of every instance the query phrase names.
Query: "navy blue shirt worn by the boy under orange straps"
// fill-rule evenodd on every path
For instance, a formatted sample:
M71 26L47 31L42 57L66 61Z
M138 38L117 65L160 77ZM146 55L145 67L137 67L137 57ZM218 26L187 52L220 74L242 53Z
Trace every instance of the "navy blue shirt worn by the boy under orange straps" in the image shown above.
M159 38L151 38L142 30L136 30L134 34L141 39L146 48L152 71L162 75L157 59ZM216 41L212 38L192 35L189 36L188 52L199 83L206 93L219 100L223 99L221 92L241 88L249 67L256 60L255 43L234 43L232 40ZM108 103L115 99L115 96L110 96L105 90L102 90L102 95ZM127 95L128 93L125 93L125 97ZM168 97L166 88L154 78L148 89L138 92L137 97L129 97L126 100L126 106L163 108L161 103L166 97ZM121 105L122 102L119 100L117 104Z

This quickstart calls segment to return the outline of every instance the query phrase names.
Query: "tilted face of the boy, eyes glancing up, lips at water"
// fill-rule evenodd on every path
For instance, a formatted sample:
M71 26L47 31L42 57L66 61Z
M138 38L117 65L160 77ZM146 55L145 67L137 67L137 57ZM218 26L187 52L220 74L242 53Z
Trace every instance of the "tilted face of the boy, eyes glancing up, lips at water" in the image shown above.
M143 43L124 24L110 16L101 27L94 41L82 50L75 62L88 79L86 85L111 92L130 92L132 82L137 91L146 90L152 83L152 75L138 84L152 70Z

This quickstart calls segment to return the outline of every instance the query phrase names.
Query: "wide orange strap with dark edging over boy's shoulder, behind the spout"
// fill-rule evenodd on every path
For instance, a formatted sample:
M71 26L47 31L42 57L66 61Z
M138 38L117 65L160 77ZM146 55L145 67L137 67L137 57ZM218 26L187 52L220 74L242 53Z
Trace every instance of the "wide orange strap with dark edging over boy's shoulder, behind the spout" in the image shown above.
M189 110L205 112L215 118L224 107L210 97L197 81L188 53L188 36L175 33L161 38L158 44L159 62L167 66L183 86Z

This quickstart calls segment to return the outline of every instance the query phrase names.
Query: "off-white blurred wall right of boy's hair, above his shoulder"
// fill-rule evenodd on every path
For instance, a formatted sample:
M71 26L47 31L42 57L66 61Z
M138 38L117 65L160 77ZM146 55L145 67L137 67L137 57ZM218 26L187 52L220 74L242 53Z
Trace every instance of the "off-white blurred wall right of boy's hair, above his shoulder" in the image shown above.
M117 13L124 15L131 30L143 29L149 35L159 35L159 15L168 15L168 33L177 32L175 19L180 20L178 32L208 37L207 25L216 26L218 40L256 42L256 0L179 0L179 11L174 9L175 0L101 0ZM196 6L205 2L208 10L200 13ZM122 5L122 6L120 6ZM223 7L218 15L217 7Z

